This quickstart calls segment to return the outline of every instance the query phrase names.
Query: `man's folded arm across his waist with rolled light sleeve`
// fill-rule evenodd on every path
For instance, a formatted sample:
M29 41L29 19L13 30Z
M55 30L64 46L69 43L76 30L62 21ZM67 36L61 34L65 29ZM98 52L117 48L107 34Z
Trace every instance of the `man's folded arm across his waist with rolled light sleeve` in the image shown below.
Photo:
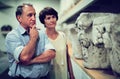
M23 64L28 65L28 64L34 64L34 63L46 63L55 57L55 49L54 49L53 45L51 44L51 42L48 40L48 37L42 31L40 34L41 34L41 36L44 35L45 51L42 52L42 54L40 54L34 58L32 57L31 59L29 59L29 61L26 61ZM34 51L32 50L32 52L34 52Z

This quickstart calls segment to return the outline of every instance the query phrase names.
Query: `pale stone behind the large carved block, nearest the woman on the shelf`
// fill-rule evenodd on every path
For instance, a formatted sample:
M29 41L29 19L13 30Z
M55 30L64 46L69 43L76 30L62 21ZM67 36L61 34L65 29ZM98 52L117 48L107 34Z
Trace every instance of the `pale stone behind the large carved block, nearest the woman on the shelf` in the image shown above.
M82 53L80 53L82 50L78 40L78 31L75 24L64 25L63 29L64 33L68 37L68 40L72 44L73 56L77 59L82 59Z

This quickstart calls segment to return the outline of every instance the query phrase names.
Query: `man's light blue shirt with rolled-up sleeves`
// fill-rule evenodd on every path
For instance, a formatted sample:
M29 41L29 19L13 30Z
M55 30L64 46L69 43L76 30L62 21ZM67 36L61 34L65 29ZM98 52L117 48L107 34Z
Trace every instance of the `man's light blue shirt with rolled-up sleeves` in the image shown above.
M44 30L39 30L39 39L36 45L35 56L42 54L45 50L54 49L53 45L49 42ZM6 51L9 59L9 72L10 76L19 76L38 78L47 75L49 72L50 62L21 65L17 64L19 56L24 46L29 41L29 35L26 34L26 30L22 26L18 26L16 29L9 32L6 36Z

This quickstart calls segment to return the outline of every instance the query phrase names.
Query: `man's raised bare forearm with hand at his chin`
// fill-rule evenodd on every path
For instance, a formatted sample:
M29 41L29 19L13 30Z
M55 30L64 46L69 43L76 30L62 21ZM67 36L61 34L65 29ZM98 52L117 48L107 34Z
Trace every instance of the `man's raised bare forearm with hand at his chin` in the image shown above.
M34 55L36 42L38 39L38 31L35 28L35 26L33 26L32 28L29 29L29 35L30 35L30 40L29 40L28 44L23 48L23 50L19 56L21 63L29 62Z

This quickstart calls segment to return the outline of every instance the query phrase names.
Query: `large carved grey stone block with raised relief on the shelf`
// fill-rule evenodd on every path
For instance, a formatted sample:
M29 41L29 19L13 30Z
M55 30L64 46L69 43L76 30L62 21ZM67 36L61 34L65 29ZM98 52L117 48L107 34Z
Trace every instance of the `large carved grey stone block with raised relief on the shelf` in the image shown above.
M103 33L106 28L101 25L103 21L101 19L107 16L102 13L82 13L76 21L82 46L83 64L87 68L109 67L108 50L104 47L106 42L103 42L108 41L107 38L104 39L107 33Z

